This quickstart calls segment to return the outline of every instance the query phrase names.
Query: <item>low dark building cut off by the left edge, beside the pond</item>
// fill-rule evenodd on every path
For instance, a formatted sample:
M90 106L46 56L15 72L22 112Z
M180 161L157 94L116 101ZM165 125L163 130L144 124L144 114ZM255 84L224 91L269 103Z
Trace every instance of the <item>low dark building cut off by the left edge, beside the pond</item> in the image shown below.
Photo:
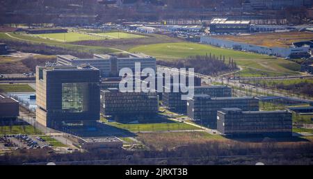
M0 95L0 123L15 121L19 116L19 101Z

